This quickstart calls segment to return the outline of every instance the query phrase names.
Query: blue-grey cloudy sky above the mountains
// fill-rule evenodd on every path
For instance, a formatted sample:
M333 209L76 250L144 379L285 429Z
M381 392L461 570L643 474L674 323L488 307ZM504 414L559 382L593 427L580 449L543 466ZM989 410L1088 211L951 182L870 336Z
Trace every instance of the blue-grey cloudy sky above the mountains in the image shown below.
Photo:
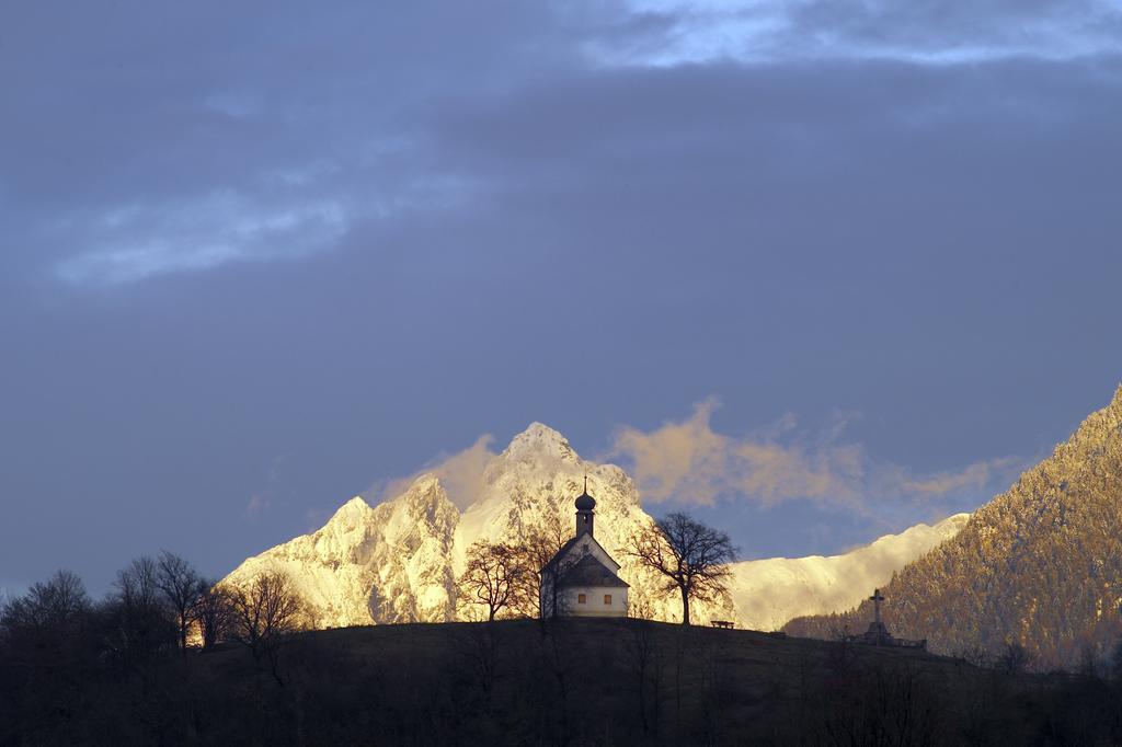
M1122 2L0 7L0 589L212 577L531 422L744 557L1122 379Z

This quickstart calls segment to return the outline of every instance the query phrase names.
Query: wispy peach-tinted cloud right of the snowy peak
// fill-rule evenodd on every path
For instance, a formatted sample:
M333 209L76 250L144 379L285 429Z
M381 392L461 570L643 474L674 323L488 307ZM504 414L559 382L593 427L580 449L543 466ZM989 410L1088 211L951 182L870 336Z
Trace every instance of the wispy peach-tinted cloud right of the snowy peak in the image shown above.
M774 506L811 499L865 508L885 499L925 499L981 492L1023 465L1003 458L958 471L914 476L908 469L871 458L859 443L846 443L845 425L854 414L838 414L813 437L795 427L793 416L744 437L712 430L718 402L699 403L693 414L644 432L619 428L609 457L622 458L640 486L644 502L712 505L739 499Z

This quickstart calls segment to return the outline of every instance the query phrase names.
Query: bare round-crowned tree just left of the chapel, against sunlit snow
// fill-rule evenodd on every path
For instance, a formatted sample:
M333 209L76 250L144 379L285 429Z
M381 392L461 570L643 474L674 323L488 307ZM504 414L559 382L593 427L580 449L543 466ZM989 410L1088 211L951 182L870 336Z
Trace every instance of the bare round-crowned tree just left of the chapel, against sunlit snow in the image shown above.
M526 554L518 547L480 540L468 548L468 562L457 582L461 607L487 608L487 620L504 609L524 608L526 574L531 573Z

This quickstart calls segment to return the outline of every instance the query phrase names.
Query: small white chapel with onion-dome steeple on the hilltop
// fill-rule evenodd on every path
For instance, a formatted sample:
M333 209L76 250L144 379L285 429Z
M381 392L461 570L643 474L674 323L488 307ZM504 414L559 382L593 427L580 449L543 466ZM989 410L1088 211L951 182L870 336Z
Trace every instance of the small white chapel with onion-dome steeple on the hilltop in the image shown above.
M627 583L619 563L592 536L596 500L585 492L576 501L577 536L567 542L541 571L542 618L626 617Z

